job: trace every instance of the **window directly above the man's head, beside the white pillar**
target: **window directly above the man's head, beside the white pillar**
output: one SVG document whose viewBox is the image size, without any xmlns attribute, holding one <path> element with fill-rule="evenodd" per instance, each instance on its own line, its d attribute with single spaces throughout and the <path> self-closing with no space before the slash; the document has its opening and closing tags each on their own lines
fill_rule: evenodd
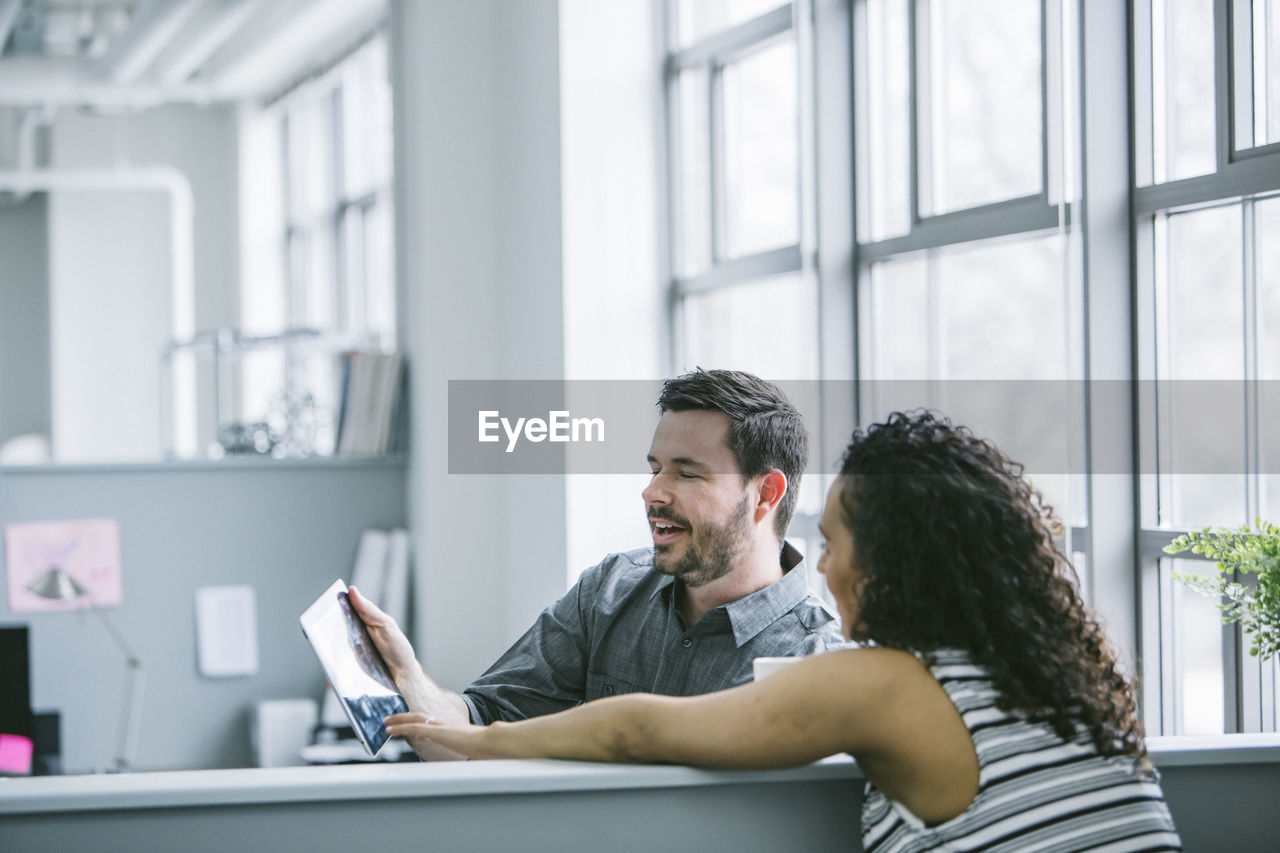
<svg viewBox="0 0 1280 853">
<path fill-rule="evenodd" d="M 668 6 L 671 278 L 684 368 L 818 375 L 801 6 Z"/>
</svg>

